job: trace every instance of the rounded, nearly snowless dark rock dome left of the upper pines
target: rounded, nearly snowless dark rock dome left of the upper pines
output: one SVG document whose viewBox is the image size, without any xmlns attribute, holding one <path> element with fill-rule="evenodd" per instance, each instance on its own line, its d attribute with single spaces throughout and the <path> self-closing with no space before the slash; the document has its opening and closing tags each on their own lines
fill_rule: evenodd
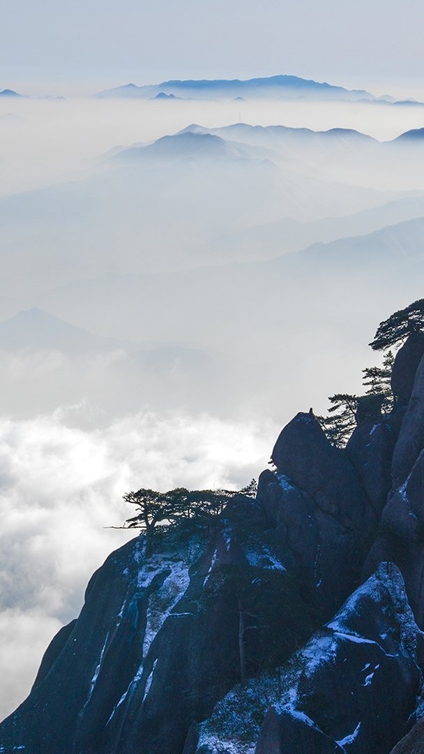
<svg viewBox="0 0 424 754">
<path fill-rule="evenodd" d="M 331 445 L 311 413 L 282 430 L 272 459 L 276 474 L 261 477 L 258 501 L 328 618 L 358 584 L 376 513 L 346 452 Z"/>
</svg>

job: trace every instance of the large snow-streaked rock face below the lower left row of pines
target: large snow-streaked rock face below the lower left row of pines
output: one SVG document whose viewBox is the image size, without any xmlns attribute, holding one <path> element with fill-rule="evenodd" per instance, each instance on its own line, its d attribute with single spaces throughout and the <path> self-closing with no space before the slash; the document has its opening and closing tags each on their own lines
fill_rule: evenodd
<svg viewBox="0 0 424 754">
<path fill-rule="evenodd" d="M 255 535 L 255 504 L 241 522 L 231 513 L 212 531 L 157 532 L 150 554 L 141 537 L 108 558 L 0 726 L 2 752 L 176 754 L 240 678 L 312 633 L 281 550 Z"/>
</svg>

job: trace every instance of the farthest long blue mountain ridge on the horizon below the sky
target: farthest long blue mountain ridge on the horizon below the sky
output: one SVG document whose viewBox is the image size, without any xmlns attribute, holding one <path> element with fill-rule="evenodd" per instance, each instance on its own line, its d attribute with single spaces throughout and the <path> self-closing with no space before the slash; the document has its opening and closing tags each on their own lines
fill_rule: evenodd
<svg viewBox="0 0 424 754">
<path fill-rule="evenodd" d="M 324 100 L 370 100 L 378 101 L 374 94 L 362 89 L 345 89 L 344 87 L 328 84 L 326 81 L 313 81 L 312 79 L 300 78 L 293 75 L 276 75 L 264 78 L 249 78 L 247 80 L 216 79 L 216 80 L 187 80 L 187 81 L 163 81 L 160 84 L 125 84 L 114 89 L 104 90 L 95 97 L 139 97 L 140 99 L 154 99 L 160 95 L 160 99 L 170 95 L 179 98 L 209 100 L 224 98 L 234 100 L 237 97 L 243 99 L 256 98 L 298 98 L 312 97 Z M 391 97 L 382 97 L 381 101 L 390 103 Z"/>
</svg>

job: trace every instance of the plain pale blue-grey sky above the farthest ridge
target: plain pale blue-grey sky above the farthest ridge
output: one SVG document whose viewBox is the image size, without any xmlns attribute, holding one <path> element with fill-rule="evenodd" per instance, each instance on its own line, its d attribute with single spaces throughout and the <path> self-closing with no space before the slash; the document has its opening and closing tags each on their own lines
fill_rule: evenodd
<svg viewBox="0 0 424 754">
<path fill-rule="evenodd" d="M 292 73 L 416 94 L 424 73 L 419 0 L 2 0 L 0 8 L 0 87 L 37 93 Z"/>
</svg>

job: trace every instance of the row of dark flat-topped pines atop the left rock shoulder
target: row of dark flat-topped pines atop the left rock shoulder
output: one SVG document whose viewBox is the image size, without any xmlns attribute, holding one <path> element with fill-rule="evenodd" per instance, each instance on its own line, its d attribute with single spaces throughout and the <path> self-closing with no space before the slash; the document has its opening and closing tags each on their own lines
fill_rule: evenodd
<svg viewBox="0 0 424 754">
<path fill-rule="evenodd" d="M 151 532 L 157 523 L 172 525 L 184 520 L 211 520 L 219 516 L 224 507 L 239 498 L 255 498 L 256 482 L 252 480 L 241 490 L 186 489 L 177 487 L 168 492 L 139 489 L 127 492 L 124 500 L 136 505 L 137 514 L 127 519 L 125 529 L 144 529 Z"/>
</svg>

